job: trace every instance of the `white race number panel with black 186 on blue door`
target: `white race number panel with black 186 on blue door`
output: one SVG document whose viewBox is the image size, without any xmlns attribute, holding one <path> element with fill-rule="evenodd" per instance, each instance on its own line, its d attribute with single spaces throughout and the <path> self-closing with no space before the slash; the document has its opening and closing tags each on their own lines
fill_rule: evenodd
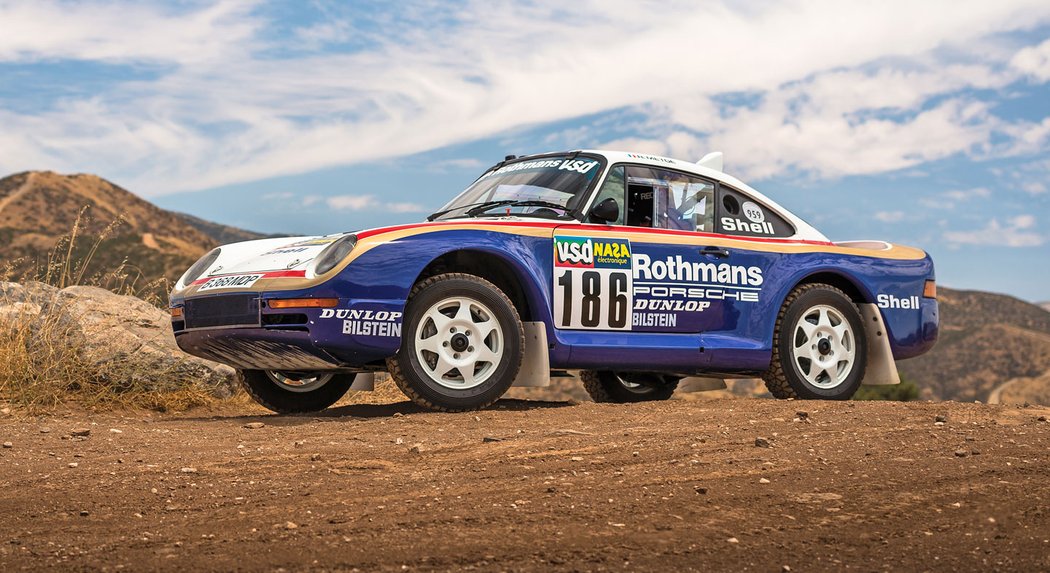
<svg viewBox="0 0 1050 573">
<path fill-rule="evenodd" d="M 615 269 L 556 269 L 554 320 L 560 328 L 631 327 L 631 275 Z"/>
</svg>

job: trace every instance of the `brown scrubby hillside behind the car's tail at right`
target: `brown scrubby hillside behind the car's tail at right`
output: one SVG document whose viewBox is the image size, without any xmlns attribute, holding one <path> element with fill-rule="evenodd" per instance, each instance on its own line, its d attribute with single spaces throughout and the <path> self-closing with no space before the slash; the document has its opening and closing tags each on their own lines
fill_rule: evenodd
<svg viewBox="0 0 1050 573">
<path fill-rule="evenodd" d="M 1048 382 L 1050 312 L 1016 298 L 980 291 L 939 288 L 941 338 L 924 356 L 898 363 L 901 374 L 923 388 L 924 398 L 987 400 L 1016 378 Z M 1024 390 L 1024 391 L 1023 391 Z M 1004 402 L 1046 403 L 1038 381 L 1004 391 Z"/>
</svg>

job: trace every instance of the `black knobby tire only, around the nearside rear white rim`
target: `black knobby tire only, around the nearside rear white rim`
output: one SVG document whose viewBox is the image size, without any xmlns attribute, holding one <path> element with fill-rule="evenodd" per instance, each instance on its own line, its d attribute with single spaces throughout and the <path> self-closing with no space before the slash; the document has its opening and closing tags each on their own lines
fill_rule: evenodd
<svg viewBox="0 0 1050 573">
<path fill-rule="evenodd" d="M 794 327 L 799 316 L 817 304 L 826 304 L 840 311 L 853 330 L 856 354 L 853 369 L 846 380 L 834 388 L 823 389 L 810 384 L 793 362 L 792 336 L 784 328 Z M 845 293 L 830 284 L 812 283 L 795 288 L 777 314 L 773 331 L 773 359 L 762 374 L 765 387 L 774 398 L 802 400 L 848 400 L 853 398 L 864 379 L 867 367 L 867 337 L 857 304 Z"/>
</svg>

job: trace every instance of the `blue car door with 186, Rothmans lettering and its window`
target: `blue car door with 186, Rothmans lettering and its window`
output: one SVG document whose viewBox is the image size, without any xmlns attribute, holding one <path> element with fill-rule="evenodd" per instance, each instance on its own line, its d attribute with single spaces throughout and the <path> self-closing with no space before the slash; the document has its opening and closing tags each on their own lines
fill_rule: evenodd
<svg viewBox="0 0 1050 573">
<path fill-rule="evenodd" d="M 762 269 L 718 237 L 715 182 L 670 169 L 613 166 L 592 205 L 613 198 L 611 225 L 554 232 L 553 315 L 560 330 L 701 333 L 735 327 L 757 300 Z"/>
</svg>

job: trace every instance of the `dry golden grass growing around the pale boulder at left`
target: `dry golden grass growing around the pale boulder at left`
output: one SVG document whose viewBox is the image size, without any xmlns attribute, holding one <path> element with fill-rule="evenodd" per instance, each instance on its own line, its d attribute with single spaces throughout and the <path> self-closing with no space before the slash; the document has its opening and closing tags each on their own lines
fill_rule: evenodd
<svg viewBox="0 0 1050 573">
<path fill-rule="evenodd" d="M 47 411 L 74 402 L 91 408 L 142 407 L 153 410 L 185 410 L 213 403 L 208 388 L 196 383 L 182 364 L 144 367 L 148 359 L 135 349 L 104 362 L 91 359 L 88 341 L 49 289 L 75 284 L 101 286 L 118 294 L 146 298 L 165 305 L 155 293 L 156 284 L 138 285 L 129 281 L 129 267 L 121 264 L 106 273 L 87 274 L 99 246 L 121 225 L 117 219 L 94 237 L 86 255 L 78 258 L 82 229 L 81 211 L 71 232 L 51 250 L 47 262 L 33 273 L 12 276 L 8 261 L 2 278 L 26 285 L 29 296 L 6 304 L 0 313 L 0 400 L 30 411 Z"/>
</svg>

